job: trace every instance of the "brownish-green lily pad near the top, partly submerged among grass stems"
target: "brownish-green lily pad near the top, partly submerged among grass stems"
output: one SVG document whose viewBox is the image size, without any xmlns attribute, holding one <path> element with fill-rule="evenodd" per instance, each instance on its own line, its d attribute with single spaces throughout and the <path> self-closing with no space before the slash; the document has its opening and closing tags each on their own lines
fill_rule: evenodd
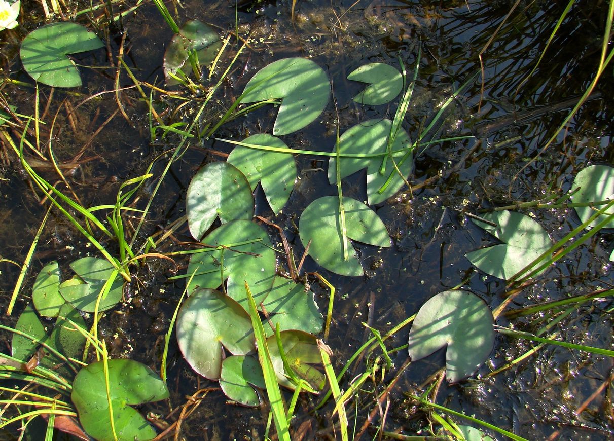
<svg viewBox="0 0 614 441">
<path fill-rule="evenodd" d="M 211 26 L 199 20 L 188 20 L 179 29 L 179 34 L 173 36 L 171 43 L 166 47 L 164 53 L 164 76 L 169 84 L 174 84 L 175 80 L 169 75 L 177 75 L 179 69 L 184 67 L 188 60 L 189 52 L 196 51 L 198 64 L 207 66 L 217 55 L 217 51 L 222 47 L 219 34 Z M 192 71 L 192 65 L 190 71 Z M 184 72 L 188 74 L 189 72 Z"/>
</svg>

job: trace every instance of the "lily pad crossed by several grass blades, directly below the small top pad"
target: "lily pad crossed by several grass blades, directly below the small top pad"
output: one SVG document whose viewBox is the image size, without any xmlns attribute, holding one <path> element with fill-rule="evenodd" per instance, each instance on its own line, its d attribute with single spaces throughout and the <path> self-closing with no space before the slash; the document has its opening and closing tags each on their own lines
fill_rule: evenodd
<svg viewBox="0 0 614 441">
<path fill-rule="evenodd" d="M 387 152 L 387 140 L 392 127 L 391 120 L 372 119 L 359 123 L 346 130 L 339 138 L 340 153 L 378 154 Z M 411 141 L 406 131 L 400 128 L 392 142 L 392 154 L 403 178 L 408 178 L 413 166 L 413 153 L 410 149 Z M 399 151 L 400 150 L 400 151 Z M 333 149 L 334 151 L 334 149 Z M 405 157 L 405 155 L 407 155 Z M 382 162 L 386 158 L 385 168 Z M 378 204 L 395 195 L 405 181 L 399 176 L 389 156 L 367 158 L 340 158 L 341 179 L 367 168 L 367 201 L 369 205 Z M 383 192 L 379 189 L 392 174 L 392 181 Z M 328 161 L 328 181 L 336 182 L 336 158 Z"/>
</svg>

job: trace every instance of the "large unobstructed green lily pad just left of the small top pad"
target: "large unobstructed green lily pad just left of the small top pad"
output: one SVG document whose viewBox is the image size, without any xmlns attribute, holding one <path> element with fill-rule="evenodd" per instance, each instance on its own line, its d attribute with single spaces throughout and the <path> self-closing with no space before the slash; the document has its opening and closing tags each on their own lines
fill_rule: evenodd
<svg viewBox="0 0 614 441">
<path fill-rule="evenodd" d="M 243 103 L 281 98 L 273 135 L 300 130 L 324 111 L 330 80 L 324 70 L 306 58 L 284 58 L 256 72 L 247 83 Z"/>
</svg>

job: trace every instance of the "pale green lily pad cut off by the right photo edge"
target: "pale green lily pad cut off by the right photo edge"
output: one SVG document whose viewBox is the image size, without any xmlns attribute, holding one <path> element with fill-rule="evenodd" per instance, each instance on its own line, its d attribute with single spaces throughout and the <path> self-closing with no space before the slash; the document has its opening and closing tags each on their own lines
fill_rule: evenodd
<svg viewBox="0 0 614 441">
<path fill-rule="evenodd" d="M 578 190 L 575 192 L 575 190 Z M 591 203 L 596 201 L 605 201 L 614 198 L 614 168 L 608 165 L 591 165 L 581 170 L 573 179 L 571 189 L 572 201 L 574 203 Z M 575 192 L 575 193 L 574 193 Z M 586 222 L 589 217 L 595 214 L 595 211 L 603 208 L 603 206 L 593 207 L 575 207 L 575 211 L 582 222 Z M 610 208 L 607 213 L 614 213 L 614 208 Z M 600 214 L 597 219 L 593 220 L 589 225 L 594 227 L 607 217 L 607 214 Z M 614 228 L 614 220 L 608 222 L 604 228 Z"/>
</svg>

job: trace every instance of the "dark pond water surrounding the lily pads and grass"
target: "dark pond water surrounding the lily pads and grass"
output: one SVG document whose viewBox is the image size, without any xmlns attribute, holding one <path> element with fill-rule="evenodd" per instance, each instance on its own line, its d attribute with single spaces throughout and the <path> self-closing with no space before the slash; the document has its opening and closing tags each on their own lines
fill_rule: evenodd
<svg viewBox="0 0 614 441">
<path fill-rule="evenodd" d="M 552 191 L 562 194 L 571 187 L 573 176 L 587 165 L 614 163 L 611 68 L 565 130 L 542 151 L 594 77 L 608 11 L 605 1 L 577 1 L 542 63 L 528 77 L 565 4 L 503 0 L 333 4 L 297 1 L 293 20 L 291 1 L 177 4 L 181 20 L 198 18 L 215 26 L 222 35 L 238 29 L 241 36 L 251 38 L 249 47 L 238 58 L 214 103 L 205 112 L 203 126 L 207 121 L 215 121 L 230 106 L 258 69 L 284 57 L 309 57 L 332 79 L 339 118 L 330 103 L 316 122 L 284 137 L 289 146 L 304 149 L 330 151 L 337 125 L 343 133 L 363 120 L 392 117 L 396 102 L 374 109 L 352 101 L 360 85 L 348 81 L 346 76 L 362 64 L 383 61 L 398 66 L 398 57 L 408 72 L 412 72 L 421 49 L 419 76 L 403 125 L 413 139 L 438 106 L 461 84 L 470 82 L 467 90 L 449 107 L 437 136 L 471 135 L 472 138 L 435 144 L 424 151 L 419 149 L 411 176 L 413 190 L 405 190 L 375 208 L 391 233 L 393 246 L 378 250 L 357 245 L 365 268 L 362 278 L 336 276 L 322 271 L 313 260 L 306 260 L 305 269 L 321 271 L 340 294 L 335 301 L 332 333 L 327 341 L 334 351 L 336 370 L 343 367 L 368 337 L 362 322 L 385 332 L 416 313 L 432 295 L 461 284 L 493 309 L 502 303 L 505 283 L 476 270 L 464 257 L 469 251 L 494 243 L 491 236 L 468 220 L 465 212 L 480 214 L 481 209 L 538 200 Z M 128 2 L 116 5 L 123 9 L 130 6 Z M 25 22 L 28 29 L 41 24 L 39 4 L 23 2 L 23 8 L 29 16 Z M 173 10 L 170 5 L 169 9 Z M 102 10 L 96 13 L 96 18 L 103 18 Z M 80 21 L 87 23 L 84 17 Z M 79 62 L 115 65 L 122 47 L 126 64 L 139 80 L 157 82 L 166 88 L 161 60 L 172 33 L 155 7 L 140 6 L 136 14 L 127 15 L 116 25 L 101 26 L 107 33 L 112 60 L 107 58 L 105 50 L 100 50 L 80 57 Z M 120 25 L 125 30 L 123 34 Z M 8 36 L 2 35 L 2 69 L 5 76 L 31 84 L 31 79 L 21 70 L 17 55 L 18 41 L 25 33 L 22 27 Z M 236 48 L 227 54 L 228 59 L 233 50 Z M 59 160 L 79 163 L 67 165 L 66 170 L 70 171 L 68 179 L 86 206 L 112 203 L 120 182 L 144 173 L 152 162 L 152 173 L 159 175 L 168 160 L 168 155 L 162 154 L 174 149 L 178 142 L 173 136 L 150 142 L 147 106 L 134 88 L 123 90 L 121 95 L 130 122 L 120 113 L 114 114 L 117 102 L 108 91 L 114 90 L 115 72 L 112 67 L 85 69 L 84 87 L 77 89 L 77 94 L 52 91 L 45 86 L 40 89 L 42 119 L 47 122 L 41 138 L 49 139 L 49 125 L 56 116 L 53 149 Z M 34 88 L 27 84 L 2 84 L 2 94 L 22 114 L 34 111 Z M 206 81 L 204 84 L 210 85 Z M 133 83 L 122 74 L 119 85 L 131 87 Z M 154 104 L 158 111 L 167 123 L 190 122 L 202 95 L 190 95 L 179 87 L 168 89 L 181 92 L 188 98 L 187 104 L 155 92 Z M 95 100 L 85 100 L 105 91 Z M 253 133 L 270 132 L 275 112 L 272 107 L 251 112 L 247 117 L 223 125 L 216 137 L 242 139 Z M 96 133 L 103 125 L 103 130 Z M 81 150 L 82 155 L 75 158 Z M 212 160 L 223 160 L 223 154 L 230 150 L 230 144 L 212 139 L 192 142 L 173 164 L 157 193 L 142 238 L 159 234 L 184 216 L 185 191 L 196 170 Z M 300 256 L 303 247 L 295 228 L 300 213 L 317 197 L 335 195 L 336 187 L 328 184 L 324 171 L 327 164 L 322 160 L 303 155 L 296 159 L 300 179 L 284 214 L 274 220 L 286 230 L 295 256 Z M 1 160 L 0 254 L 21 262 L 47 204 L 37 200 L 40 193 L 34 196 L 12 151 L 6 149 Z M 58 180 L 45 165 L 37 170 L 52 182 Z M 363 200 L 365 194 L 363 174 L 344 180 L 344 195 Z M 146 200 L 148 195 L 144 193 L 141 197 Z M 553 240 L 559 240 L 579 224 L 573 209 L 525 209 L 523 213 L 534 216 Z M 262 194 L 257 195 L 257 214 L 273 219 Z M 60 213 L 52 211 L 51 216 L 36 248 L 17 313 L 29 301 L 34 276 L 44 263 L 58 259 L 67 265 L 76 257 L 93 254 L 87 241 Z M 274 234 L 274 230 L 270 232 Z M 187 226 L 181 225 L 158 251 L 185 249 L 180 243 L 189 240 Z M 114 248 L 112 243 L 107 245 Z M 599 233 L 526 287 L 514 298 L 510 308 L 611 288 L 613 279 L 608 260 L 611 251 L 612 234 Z M 187 265 L 187 259 L 176 262 L 182 268 Z M 9 263 L 2 265 L 0 302 L 6 308 L 18 268 Z M 131 357 L 159 369 L 168 321 L 184 289 L 181 281 L 168 281 L 172 270 L 172 265 L 157 260 L 138 268 L 133 283 L 126 287 L 126 302 L 102 319 L 101 332 L 111 344 L 112 356 Z M 312 283 L 324 311 L 328 291 L 316 281 Z M 558 314 L 558 310 L 550 311 L 511 322 L 499 318 L 497 323 L 503 326 L 511 323 L 517 329 L 537 332 Z M 13 324 L 16 315 L 2 318 L 2 322 Z M 581 304 L 552 331 L 558 332 L 558 337 L 565 341 L 613 349 L 611 297 Z M 409 329 L 398 332 L 388 340 L 388 347 L 405 344 L 408 332 Z M 182 420 L 181 436 L 184 439 L 262 439 L 267 410 L 227 404 L 216 389 L 217 384 L 193 373 L 172 342 L 168 370 L 171 400 L 144 410 L 151 410 L 173 423 L 179 418 L 179 407 L 185 404 L 186 396 L 211 388 L 200 400 L 199 407 Z M 9 339 L 5 338 L 2 351 L 9 350 L 9 346 Z M 544 346 L 514 367 L 483 378 L 530 348 L 527 341 L 499 336 L 489 362 L 478 372 L 482 379 L 454 385 L 443 381 L 437 386 L 436 402 L 527 439 L 612 439 L 614 365 L 608 357 Z M 443 351 L 438 351 L 399 373 L 406 359 L 406 350 L 399 351 L 394 369 L 378 372 L 376 378 L 363 385 L 357 398 L 346 405 L 350 427 L 356 426 L 354 433 L 362 433 L 362 439 L 381 435 L 378 427 L 405 435 L 429 434 L 432 418 L 406 392 L 424 391 L 433 381 L 437 383 L 432 375 L 443 367 L 445 356 Z M 341 387 L 348 388 L 352 378 L 364 372 L 369 362 L 373 362 L 372 357 L 357 362 L 343 378 Z M 377 397 L 394 378 L 397 381 L 391 393 L 378 408 Z M 334 427 L 336 417 L 331 416 L 332 405 L 314 412 L 316 401 L 313 397 L 300 400 L 292 423 L 293 430 L 298 431 L 296 439 L 300 439 L 300 434 L 304 439 L 334 439 L 338 435 Z M 372 419 L 370 426 L 365 424 L 368 418 Z M 458 418 L 454 421 L 465 423 Z M 361 430 L 363 424 L 366 429 Z M 495 432 L 489 434 L 503 439 Z M 7 434 L 7 439 L 17 435 L 15 430 Z"/>
</svg>

